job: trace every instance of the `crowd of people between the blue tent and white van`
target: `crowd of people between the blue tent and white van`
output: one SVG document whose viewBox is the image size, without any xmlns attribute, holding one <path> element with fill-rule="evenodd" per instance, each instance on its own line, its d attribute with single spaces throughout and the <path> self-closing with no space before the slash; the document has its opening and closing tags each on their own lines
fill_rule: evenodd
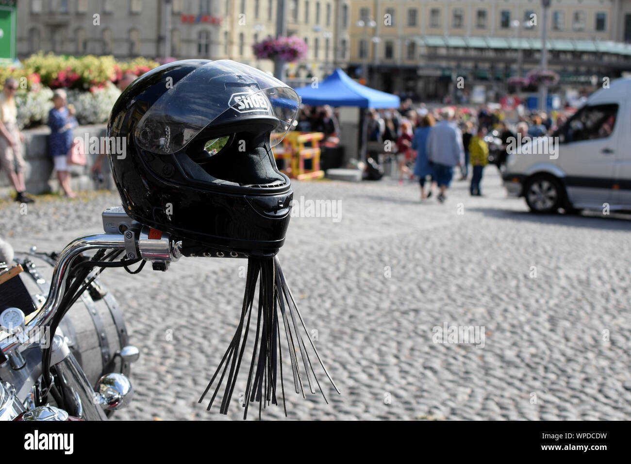
<svg viewBox="0 0 631 464">
<path fill-rule="evenodd" d="M 482 106 L 477 112 L 465 107 L 428 109 L 425 105 L 414 107 L 410 100 L 398 110 L 370 110 L 367 118 L 369 141 L 384 146 L 391 141 L 388 146 L 396 146 L 399 184 L 406 176 L 417 177 L 421 199 L 430 198 L 437 190 L 440 203 L 447 198 L 454 172 L 459 174 L 459 181 L 470 182 L 472 196 L 482 196 L 480 184 L 489 162 L 487 135 L 492 133 L 493 140 L 500 141 L 495 155 L 499 167 L 507 158 L 511 138 L 518 133 L 522 139 L 545 136 L 565 122 L 563 114 L 531 112 L 518 114 L 511 124 L 499 108 Z"/>
</svg>

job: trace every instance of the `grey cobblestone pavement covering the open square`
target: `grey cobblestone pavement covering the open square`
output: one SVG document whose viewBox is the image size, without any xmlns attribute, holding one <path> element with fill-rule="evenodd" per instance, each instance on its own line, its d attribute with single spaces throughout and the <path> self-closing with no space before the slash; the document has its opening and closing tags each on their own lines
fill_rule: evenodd
<svg viewBox="0 0 631 464">
<path fill-rule="evenodd" d="M 294 189 L 341 203 L 339 222 L 292 218 L 280 259 L 342 395 L 326 382 L 329 405 L 286 391 L 290 419 L 631 419 L 628 218 L 531 215 L 505 198 L 494 167 L 484 198 L 454 182 L 444 205 L 389 180 Z M 99 232 L 100 211 L 116 204 L 49 199 L 20 215 L 4 203 L 0 235 L 59 250 Z M 227 416 L 197 400 L 238 322 L 244 264 L 189 258 L 167 273 L 103 274 L 142 352 L 134 401 L 116 420 L 242 416 L 235 398 Z M 484 338 L 435 343 L 444 326 Z M 244 386 L 242 372 L 235 391 Z M 273 406 L 263 417 L 284 415 Z"/>
</svg>

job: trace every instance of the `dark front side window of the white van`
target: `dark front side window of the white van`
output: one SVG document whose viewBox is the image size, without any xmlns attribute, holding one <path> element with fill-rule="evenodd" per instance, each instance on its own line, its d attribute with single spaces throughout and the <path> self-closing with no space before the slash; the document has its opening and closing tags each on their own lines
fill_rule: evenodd
<svg viewBox="0 0 631 464">
<path fill-rule="evenodd" d="M 613 133 L 617 114 L 617 104 L 582 107 L 558 129 L 555 136 L 561 143 L 606 138 Z"/>
</svg>

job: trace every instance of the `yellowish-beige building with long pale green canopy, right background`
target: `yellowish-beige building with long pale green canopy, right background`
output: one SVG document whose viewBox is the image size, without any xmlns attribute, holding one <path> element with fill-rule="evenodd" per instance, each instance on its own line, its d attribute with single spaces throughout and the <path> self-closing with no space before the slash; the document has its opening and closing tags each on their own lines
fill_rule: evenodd
<svg viewBox="0 0 631 464">
<path fill-rule="evenodd" d="M 420 98 L 457 97 L 459 76 L 505 92 L 539 67 L 543 22 L 538 0 L 353 0 L 349 70 Z M 630 0 L 552 0 L 547 32 L 562 82 L 631 71 Z"/>
</svg>

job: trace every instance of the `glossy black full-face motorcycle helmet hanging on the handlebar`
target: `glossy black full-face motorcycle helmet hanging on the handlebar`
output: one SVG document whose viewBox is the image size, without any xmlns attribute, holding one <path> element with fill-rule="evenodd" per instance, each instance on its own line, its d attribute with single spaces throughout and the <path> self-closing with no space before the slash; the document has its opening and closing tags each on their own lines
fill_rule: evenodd
<svg viewBox="0 0 631 464">
<path fill-rule="evenodd" d="M 300 98 L 230 60 L 165 64 L 131 83 L 107 124 L 122 205 L 182 240 L 187 256 L 271 256 L 285 241 L 292 186 L 271 146 Z"/>
</svg>

